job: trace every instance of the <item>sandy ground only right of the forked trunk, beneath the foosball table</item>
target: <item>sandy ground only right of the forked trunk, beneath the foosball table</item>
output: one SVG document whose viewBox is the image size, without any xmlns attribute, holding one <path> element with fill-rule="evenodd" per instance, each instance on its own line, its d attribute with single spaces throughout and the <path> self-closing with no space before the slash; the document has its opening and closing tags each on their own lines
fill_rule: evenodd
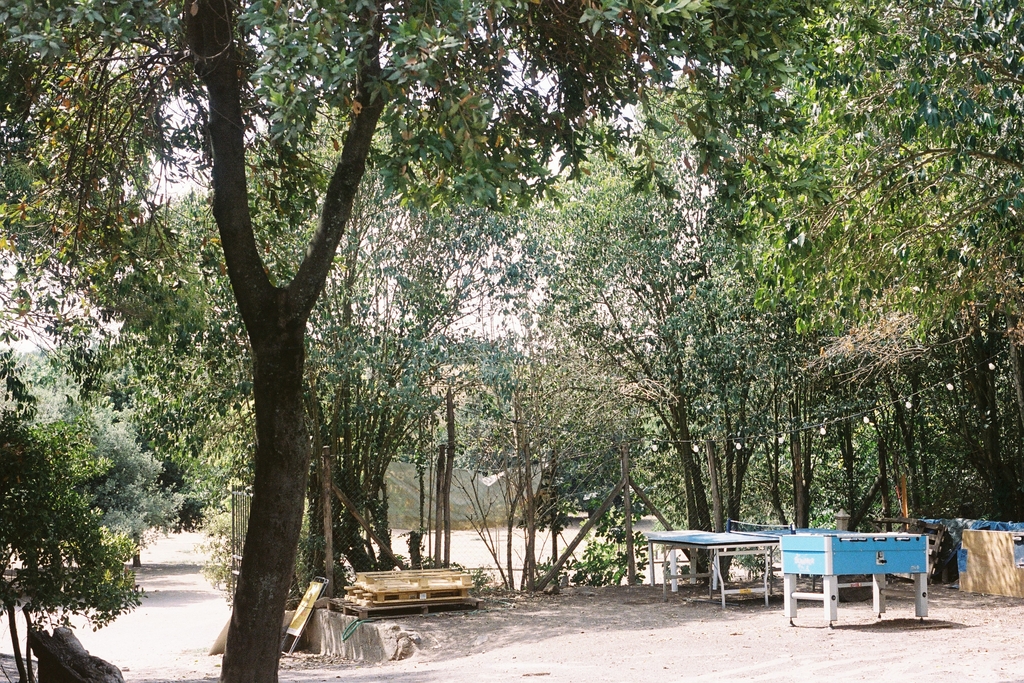
<svg viewBox="0 0 1024 683">
<path fill-rule="evenodd" d="M 282 680 L 1024 681 L 1024 600 L 937 588 L 924 622 L 907 595 L 891 598 L 882 621 L 869 602 L 844 603 L 829 630 L 813 606 L 792 628 L 778 599 L 722 610 L 703 595 L 666 603 L 647 587 L 572 590 L 511 609 L 416 617 L 407 628 L 433 647 L 409 660 L 286 671 Z"/>
</svg>

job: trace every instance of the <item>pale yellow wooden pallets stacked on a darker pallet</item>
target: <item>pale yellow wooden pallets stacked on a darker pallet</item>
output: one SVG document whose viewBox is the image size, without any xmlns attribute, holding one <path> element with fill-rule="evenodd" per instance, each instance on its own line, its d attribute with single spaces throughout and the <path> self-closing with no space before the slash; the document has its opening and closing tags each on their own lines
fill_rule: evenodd
<svg viewBox="0 0 1024 683">
<path fill-rule="evenodd" d="M 472 578 L 452 569 L 365 571 L 345 588 L 345 598 L 367 607 L 459 601 L 469 597 Z"/>
</svg>

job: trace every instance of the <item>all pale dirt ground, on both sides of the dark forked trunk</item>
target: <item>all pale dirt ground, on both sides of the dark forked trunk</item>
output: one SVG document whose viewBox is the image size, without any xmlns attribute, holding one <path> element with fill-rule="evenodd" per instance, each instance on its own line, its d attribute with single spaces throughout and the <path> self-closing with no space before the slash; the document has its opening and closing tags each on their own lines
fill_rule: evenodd
<svg viewBox="0 0 1024 683">
<path fill-rule="evenodd" d="M 227 618 L 221 594 L 199 574 L 201 538 L 180 535 L 143 554 L 142 607 L 98 632 L 79 629 L 93 654 L 127 681 L 213 681 L 206 651 Z M 791 627 L 781 599 L 730 603 L 684 587 L 566 589 L 556 596 L 490 597 L 477 612 L 403 620 L 420 634 L 411 658 L 376 666 L 316 655 L 282 660 L 282 681 L 486 683 L 546 681 L 1019 681 L 1024 682 L 1024 600 L 933 587 L 930 616 L 890 597 L 883 620 L 870 602 L 843 603 L 827 629 L 806 603 Z M 10 652 L 0 630 L 0 654 Z M 6 668 L 9 659 L 0 661 Z"/>
</svg>

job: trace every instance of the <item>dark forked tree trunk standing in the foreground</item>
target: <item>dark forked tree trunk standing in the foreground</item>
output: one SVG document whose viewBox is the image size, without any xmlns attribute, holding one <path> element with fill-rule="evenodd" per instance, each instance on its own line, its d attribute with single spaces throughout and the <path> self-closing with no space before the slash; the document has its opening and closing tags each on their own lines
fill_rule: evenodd
<svg viewBox="0 0 1024 683">
<path fill-rule="evenodd" d="M 373 6 L 365 17 L 368 40 L 378 42 L 368 44 L 360 74 L 364 85 L 357 98 L 362 108 L 349 125 L 341 159 L 328 184 L 319 224 L 287 287 L 270 283 L 249 212 L 233 4 L 229 0 L 185 0 L 182 18 L 196 72 L 209 97 L 213 215 L 253 357 L 256 455 L 252 510 L 221 680 L 275 683 L 281 622 L 294 574 L 310 459 L 302 400 L 305 326 L 351 215 L 383 110 L 383 99 L 371 100 L 365 87 L 380 74 L 380 17 Z"/>
</svg>

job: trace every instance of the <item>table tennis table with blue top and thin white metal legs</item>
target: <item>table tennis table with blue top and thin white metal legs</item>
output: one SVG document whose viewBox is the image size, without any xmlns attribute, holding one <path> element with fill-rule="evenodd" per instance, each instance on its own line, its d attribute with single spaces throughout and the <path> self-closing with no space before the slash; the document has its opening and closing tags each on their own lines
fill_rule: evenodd
<svg viewBox="0 0 1024 683">
<path fill-rule="evenodd" d="M 716 589 L 720 592 L 722 607 L 725 607 L 725 597 L 727 595 L 756 595 L 764 594 L 765 604 L 768 604 L 768 596 L 771 594 L 772 582 L 772 556 L 779 545 L 782 536 L 793 533 L 793 529 L 764 529 L 759 531 L 651 531 L 647 533 L 647 557 L 650 558 L 650 585 L 654 585 L 654 545 L 664 546 L 669 553 L 669 567 L 665 573 L 665 588 L 668 592 L 670 582 L 673 590 L 676 582 L 682 578 L 688 578 L 690 583 L 696 583 L 697 579 L 710 578 L 708 582 L 709 597 L 715 596 Z M 835 532 L 835 531 L 833 531 Z M 676 573 L 675 551 L 682 550 L 690 558 L 690 573 Z M 708 553 L 710 572 L 696 573 L 694 571 L 695 554 L 698 552 Z M 722 557 L 737 555 L 762 555 L 765 559 L 765 571 L 762 578 L 761 588 L 728 588 L 725 577 L 722 574 Z M 664 566 L 664 562 L 663 562 Z"/>
</svg>

